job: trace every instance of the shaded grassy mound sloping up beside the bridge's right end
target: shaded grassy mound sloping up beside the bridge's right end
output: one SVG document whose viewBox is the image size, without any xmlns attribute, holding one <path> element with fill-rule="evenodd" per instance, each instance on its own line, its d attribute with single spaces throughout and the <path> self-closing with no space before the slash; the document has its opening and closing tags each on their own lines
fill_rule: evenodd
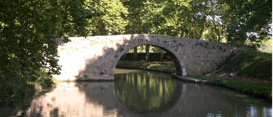
<svg viewBox="0 0 273 117">
<path fill-rule="evenodd" d="M 272 56 L 268 53 L 246 51 L 229 60 L 219 72 L 272 81 Z"/>
</svg>

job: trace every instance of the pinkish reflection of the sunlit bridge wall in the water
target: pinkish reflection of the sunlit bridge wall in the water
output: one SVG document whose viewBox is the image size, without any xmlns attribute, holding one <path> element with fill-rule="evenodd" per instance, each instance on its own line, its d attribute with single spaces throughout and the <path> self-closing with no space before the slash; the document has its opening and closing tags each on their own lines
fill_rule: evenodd
<svg viewBox="0 0 273 117">
<path fill-rule="evenodd" d="M 113 83 L 111 84 L 113 86 Z M 52 92 L 34 99 L 27 115 L 103 116 L 105 108 L 99 103 L 102 95 L 99 95 L 98 92 L 106 92 L 103 90 L 105 85 L 106 89 L 110 89 L 108 83 L 61 82 Z M 91 95 L 89 92 L 92 92 Z M 111 97 L 109 94 L 107 96 L 109 100 Z M 111 107 L 109 104 L 105 106 Z"/>
</svg>

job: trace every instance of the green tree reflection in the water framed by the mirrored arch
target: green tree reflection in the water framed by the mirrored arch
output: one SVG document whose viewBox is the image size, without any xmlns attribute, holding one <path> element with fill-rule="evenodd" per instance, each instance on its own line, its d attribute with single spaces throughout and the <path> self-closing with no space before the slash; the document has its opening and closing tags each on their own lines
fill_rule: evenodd
<svg viewBox="0 0 273 117">
<path fill-rule="evenodd" d="M 115 74 L 117 97 L 139 113 L 167 111 L 179 99 L 182 87 L 166 76 L 146 71 Z"/>
</svg>

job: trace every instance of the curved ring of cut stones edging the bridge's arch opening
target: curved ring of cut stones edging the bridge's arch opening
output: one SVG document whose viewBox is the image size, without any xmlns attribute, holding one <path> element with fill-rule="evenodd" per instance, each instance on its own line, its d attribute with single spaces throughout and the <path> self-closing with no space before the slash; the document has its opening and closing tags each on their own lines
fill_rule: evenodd
<svg viewBox="0 0 273 117">
<path fill-rule="evenodd" d="M 116 59 L 115 59 L 115 61 L 112 62 L 112 65 L 111 65 L 112 69 L 114 69 L 114 70 L 111 72 L 115 72 L 115 66 L 117 65 L 117 62 L 120 60 L 120 58 L 123 56 L 123 54 L 125 54 L 129 49 L 132 49 L 134 47 L 141 46 L 141 45 L 151 45 L 151 46 L 155 46 L 155 47 L 158 47 L 158 48 L 164 50 L 173 59 L 175 69 L 176 69 L 176 75 L 179 75 L 179 76 L 186 76 L 187 75 L 185 62 L 182 59 L 182 57 L 180 57 L 180 54 L 175 52 L 175 50 L 170 48 L 170 46 L 168 46 L 167 44 L 163 44 L 163 43 L 156 42 L 156 41 L 141 41 L 139 43 L 130 44 L 129 46 L 124 48 L 124 51 L 120 52 L 120 54 L 117 54 L 117 56 L 115 56 Z M 114 74 L 114 73 L 110 73 L 110 74 Z"/>
</svg>

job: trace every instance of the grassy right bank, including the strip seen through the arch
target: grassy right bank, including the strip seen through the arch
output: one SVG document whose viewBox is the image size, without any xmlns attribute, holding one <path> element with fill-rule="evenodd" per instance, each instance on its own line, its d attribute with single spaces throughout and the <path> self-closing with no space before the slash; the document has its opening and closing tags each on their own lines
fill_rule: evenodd
<svg viewBox="0 0 273 117">
<path fill-rule="evenodd" d="M 119 61 L 116 67 L 175 73 L 173 62 Z M 267 53 L 243 52 L 214 73 L 187 77 L 272 102 L 272 56 Z"/>
</svg>

